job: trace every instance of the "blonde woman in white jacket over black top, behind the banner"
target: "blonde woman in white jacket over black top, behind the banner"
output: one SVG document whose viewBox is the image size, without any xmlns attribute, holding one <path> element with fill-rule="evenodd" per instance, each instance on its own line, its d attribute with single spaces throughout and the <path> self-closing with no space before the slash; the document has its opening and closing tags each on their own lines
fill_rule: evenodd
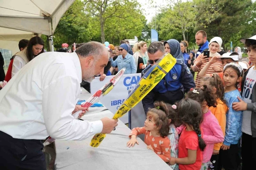
<svg viewBox="0 0 256 170">
<path fill-rule="evenodd" d="M 135 51 L 133 57 L 136 62 L 137 73 L 141 73 L 141 71 L 147 67 L 147 43 L 144 41 L 135 43 L 133 48 Z"/>
</svg>

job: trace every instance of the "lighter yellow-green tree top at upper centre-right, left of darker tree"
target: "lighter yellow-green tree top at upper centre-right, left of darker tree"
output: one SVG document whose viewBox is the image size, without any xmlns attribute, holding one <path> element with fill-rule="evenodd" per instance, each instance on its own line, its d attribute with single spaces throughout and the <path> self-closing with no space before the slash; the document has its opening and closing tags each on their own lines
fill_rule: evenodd
<svg viewBox="0 0 256 170">
<path fill-rule="evenodd" d="M 160 19 L 161 33 L 181 33 L 183 40 L 186 40 L 186 33 L 196 27 L 205 26 L 219 17 L 219 8 L 214 0 L 171 0 L 171 5 L 164 8 L 165 11 Z M 205 5 L 205 3 L 207 5 Z M 171 31 L 171 32 L 170 32 Z"/>
</svg>

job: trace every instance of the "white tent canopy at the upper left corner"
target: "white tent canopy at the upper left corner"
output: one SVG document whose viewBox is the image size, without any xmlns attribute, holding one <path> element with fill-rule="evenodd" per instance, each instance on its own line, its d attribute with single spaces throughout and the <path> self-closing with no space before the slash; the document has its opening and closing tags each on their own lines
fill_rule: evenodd
<svg viewBox="0 0 256 170">
<path fill-rule="evenodd" d="M 30 39 L 36 34 L 52 36 L 74 1 L 0 0 L 0 48 L 16 53 L 20 39 Z"/>
</svg>

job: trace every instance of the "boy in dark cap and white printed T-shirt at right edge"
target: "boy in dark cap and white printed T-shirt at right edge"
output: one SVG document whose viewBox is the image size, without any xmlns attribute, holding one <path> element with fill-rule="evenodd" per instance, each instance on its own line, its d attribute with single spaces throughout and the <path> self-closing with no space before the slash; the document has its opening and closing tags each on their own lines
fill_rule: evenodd
<svg viewBox="0 0 256 170">
<path fill-rule="evenodd" d="M 242 43 L 248 48 L 248 56 L 251 63 L 256 62 L 256 35 L 242 39 Z M 235 111 L 243 111 L 242 119 L 242 170 L 252 169 L 256 162 L 256 68 L 252 65 L 248 68 L 242 80 L 242 99 L 233 102 Z"/>
</svg>

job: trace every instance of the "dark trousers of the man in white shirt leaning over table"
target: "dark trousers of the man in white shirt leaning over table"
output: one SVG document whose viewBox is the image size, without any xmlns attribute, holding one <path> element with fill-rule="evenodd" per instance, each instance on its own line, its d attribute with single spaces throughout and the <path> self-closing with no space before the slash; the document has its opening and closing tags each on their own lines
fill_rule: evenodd
<svg viewBox="0 0 256 170">
<path fill-rule="evenodd" d="M 46 170 L 41 140 L 14 139 L 0 131 L 0 169 Z"/>
</svg>

